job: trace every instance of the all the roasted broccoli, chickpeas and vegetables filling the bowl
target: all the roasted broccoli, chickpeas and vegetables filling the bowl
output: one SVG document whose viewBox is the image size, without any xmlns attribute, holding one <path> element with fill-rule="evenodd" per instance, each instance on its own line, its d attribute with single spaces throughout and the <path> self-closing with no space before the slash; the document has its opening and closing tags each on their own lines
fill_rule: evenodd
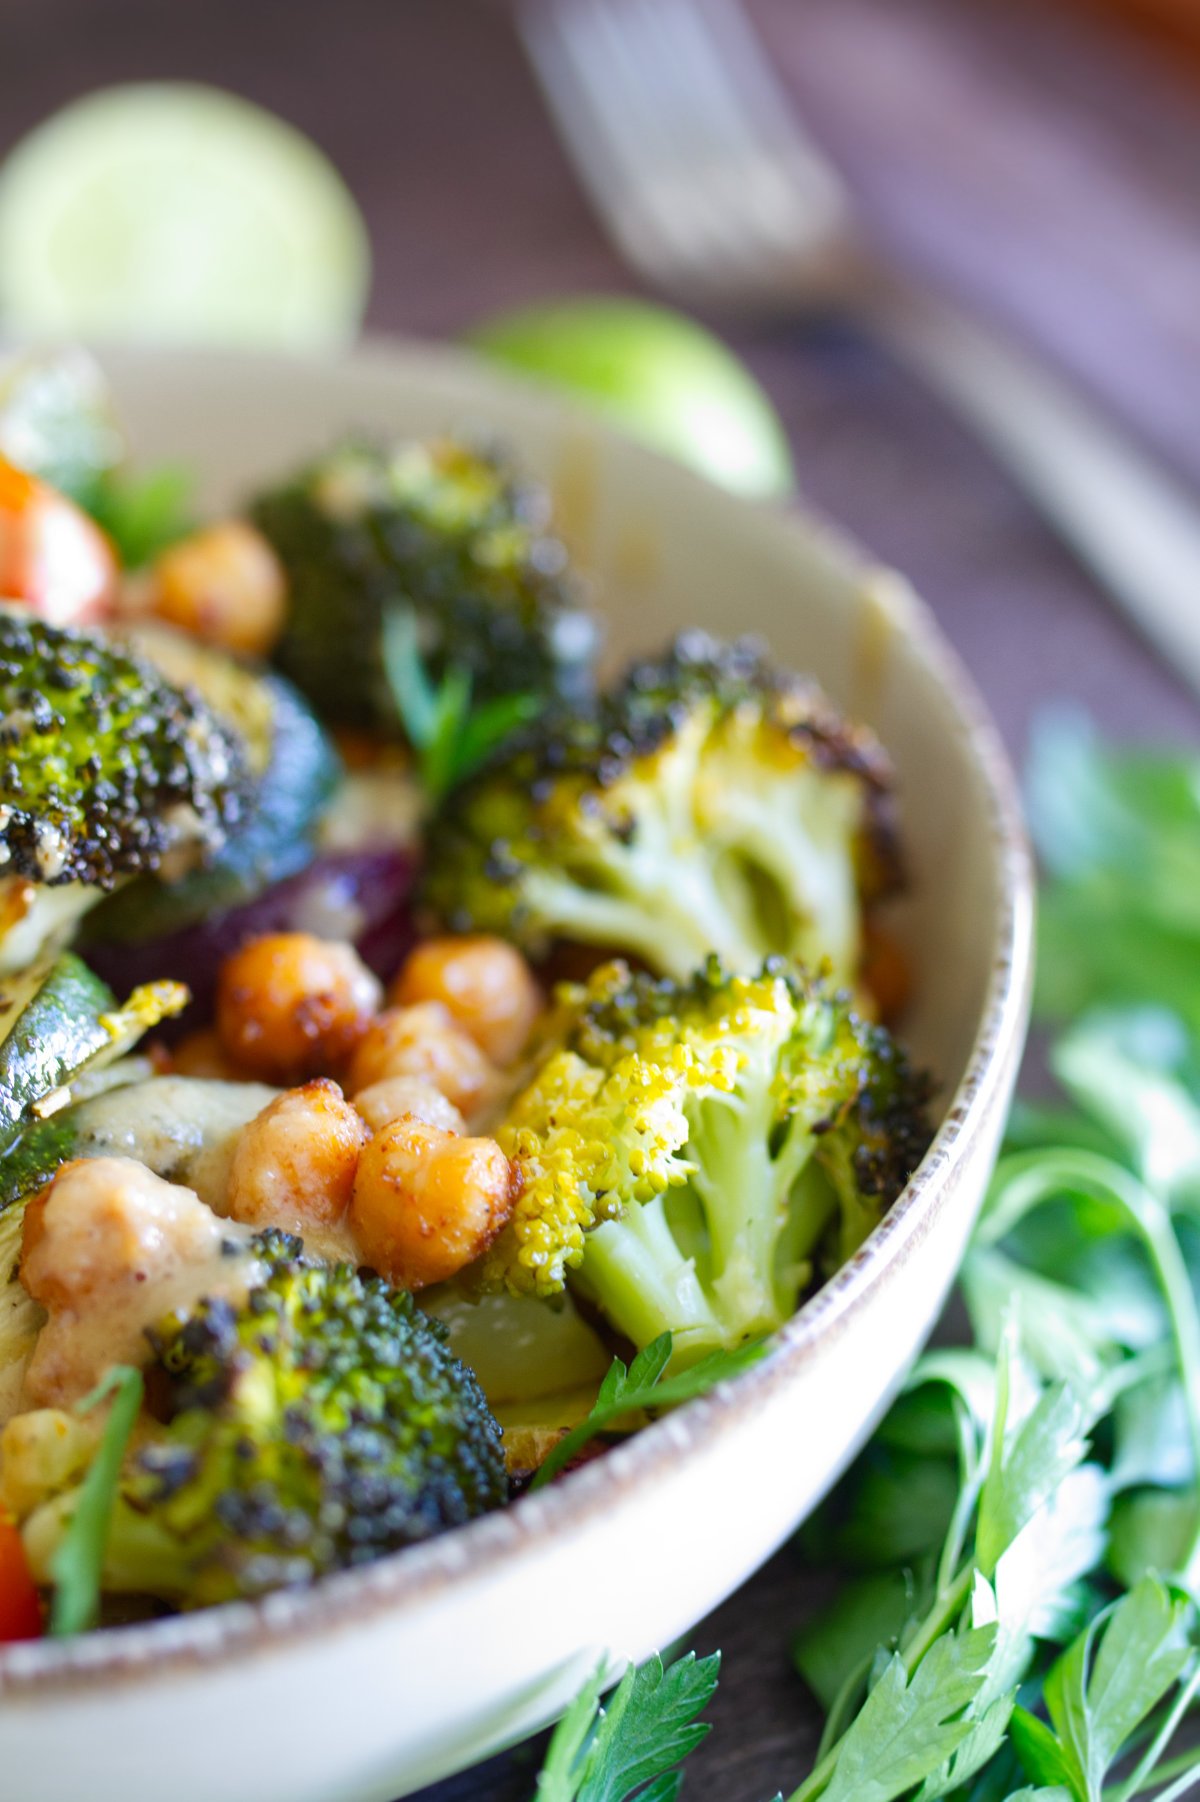
<svg viewBox="0 0 1200 1802">
<path fill-rule="evenodd" d="M 751 642 L 602 685 L 600 596 L 503 449 L 335 445 L 189 524 L 115 429 L 29 441 L 0 1640 L 503 1506 L 647 1418 L 614 1359 L 663 1400 L 735 1373 L 905 1188 L 932 1094 L 885 750 Z"/>
</svg>

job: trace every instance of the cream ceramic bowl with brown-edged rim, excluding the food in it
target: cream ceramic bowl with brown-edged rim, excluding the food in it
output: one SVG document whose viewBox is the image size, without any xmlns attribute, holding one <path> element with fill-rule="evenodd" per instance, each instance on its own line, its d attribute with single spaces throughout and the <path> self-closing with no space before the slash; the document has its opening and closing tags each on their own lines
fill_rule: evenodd
<svg viewBox="0 0 1200 1802">
<path fill-rule="evenodd" d="M 695 623 L 762 633 L 899 769 L 906 1036 L 941 1079 L 941 1130 L 764 1364 L 557 1487 L 310 1593 L 0 1652 L 11 1802 L 389 1802 L 550 1721 L 600 1656 L 692 1627 L 879 1418 L 950 1288 L 1013 1088 L 1025 842 L 993 726 L 930 614 L 804 514 L 733 499 L 443 350 L 105 360 L 135 454 L 193 465 L 213 505 L 351 427 L 497 427 L 551 483 L 614 652 Z"/>
</svg>

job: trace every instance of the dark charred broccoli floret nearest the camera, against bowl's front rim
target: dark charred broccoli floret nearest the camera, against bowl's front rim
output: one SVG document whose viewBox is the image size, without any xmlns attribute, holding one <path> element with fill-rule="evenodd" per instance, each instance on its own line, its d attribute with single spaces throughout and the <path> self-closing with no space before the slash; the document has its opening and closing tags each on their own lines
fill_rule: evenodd
<svg viewBox="0 0 1200 1802">
<path fill-rule="evenodd" d="M 308 1584 L 499 1506 L 501 1431 L 445 1330 L 301 1242 L 250 1240 L 243 1305 L 198 1303 L 151 1330 L 146 1391 L 162 1425 L 126 1458 L 105 1588 L 186 1607 Z M 74 1494 L 25 1523 L 38 1570 Z"/>
</svg>

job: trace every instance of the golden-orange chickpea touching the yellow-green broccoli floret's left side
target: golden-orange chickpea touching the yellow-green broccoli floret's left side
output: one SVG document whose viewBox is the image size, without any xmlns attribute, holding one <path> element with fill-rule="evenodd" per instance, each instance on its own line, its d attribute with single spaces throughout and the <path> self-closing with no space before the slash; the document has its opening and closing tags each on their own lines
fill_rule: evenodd
<svg viewBox="0 0 1200 1802">
<path fill-rule="evenodd" d="M 407 1117 L 362 1151 L 350 1224 L 373 1270 L 400 1288 L 425 1288 L 479 1258 L 514 1200 L 512 1168 L 494 1139 L 459 1139 Z"/>
</svg>

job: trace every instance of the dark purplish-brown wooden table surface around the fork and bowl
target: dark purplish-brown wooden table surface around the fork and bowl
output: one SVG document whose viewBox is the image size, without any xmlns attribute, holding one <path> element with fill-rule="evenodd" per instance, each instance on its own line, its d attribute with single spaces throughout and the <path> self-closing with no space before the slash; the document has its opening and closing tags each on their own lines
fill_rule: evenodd
<svg viewBox="0 0 1200 1802">
<path fill-rule="evenodd" d="M 1195 63 L 1187 76 L 1049 0 L 751 9 L 879 241 L 1041 346 L 1200 494 Z M 324 144 L 371 227 L 375 330 L 454 335 L 503 305 L 632 287 L 503 5 L 0 0 L 0 151 L 88 86 L 150 76 L 236 88 Z M 805 496 L 914 577 L 1016 757 L 1034 710 L 1063 694 L 1114 732 L 1196 739 L 1193 699 L 870 342 L 832 319 L 714 324 L 775 396 Z M 723 1649 L 724 1681 L 692 1802 L 762 1802 L 802 1775 L 814 1717 L 787 1640 L 811 1595 L 784 1550 L 695 1629 L 699 1651 Z M 535 1768 L 535 1752 L 510 1753 L 423 1802 L 517 1802 Z"/>
</svg>

